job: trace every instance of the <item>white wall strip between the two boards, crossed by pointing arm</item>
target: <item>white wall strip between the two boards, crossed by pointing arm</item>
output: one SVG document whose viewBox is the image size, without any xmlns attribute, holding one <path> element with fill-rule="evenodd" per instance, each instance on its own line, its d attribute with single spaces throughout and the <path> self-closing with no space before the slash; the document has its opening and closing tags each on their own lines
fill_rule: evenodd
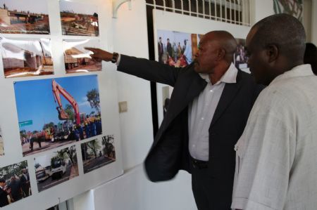
<svg viewBox="0 0 317 210">
<path fill-rule="evenodd" d="M 132 1 L 118 10 L 113 19 L 113 50 L 126 55 L 149 58 L 147 14 L 144 1 Z M 128 102 L 128 112 L 120 114 L 123 169 L 143 162 L 153 142 L 151 88 L 149 81 L 118 72 L 119 101 Z"/>
</svg>

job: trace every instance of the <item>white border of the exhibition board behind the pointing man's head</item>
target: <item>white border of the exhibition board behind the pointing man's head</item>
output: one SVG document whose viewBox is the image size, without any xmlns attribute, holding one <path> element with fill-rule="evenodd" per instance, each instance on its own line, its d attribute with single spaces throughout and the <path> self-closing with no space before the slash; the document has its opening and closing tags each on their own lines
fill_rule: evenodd
<svg viewBox="0 0 317 210">
<path fill-rule="evenodd" d="M 197 18 L 189 15 L 182 15 L 179 13 L 172 13 L 168 11 L 153 10 L 154 22 L 154 48 L 156 60 L 159 60 L 158 55 L 158 31 L 165 30 L 170 32 L 183 32 L 188 34 L 206 34 L 214 30 L 225 30 L 230 32 L 236 39 L 245 39 L 250 27 L 243 25 L 234 25 L 228 22 L 220 22 L 215 20 L 208 20 L 204 18 Z M 165 41 L 165 40 L 164 40 Z M 156 84 L 156 97 L 158 105 L 158 119 L 159 125 L 163 120 L 163 94 L 162 88 L 165 84 Z M 166 89 L 163 91 L 166 93 Z"/>
</svg>

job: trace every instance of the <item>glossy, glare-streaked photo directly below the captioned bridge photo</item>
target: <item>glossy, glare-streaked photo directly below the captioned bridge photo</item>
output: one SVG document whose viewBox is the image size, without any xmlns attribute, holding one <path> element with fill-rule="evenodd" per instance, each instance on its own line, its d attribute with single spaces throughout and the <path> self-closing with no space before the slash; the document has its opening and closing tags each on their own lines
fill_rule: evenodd
<svg viewBox="0 0 317 210">
<path fill-rule="evenodd" d="M 7 39 L 0 37 L 4 77 L 54 74 L 51 39 Z"/>
</svg>

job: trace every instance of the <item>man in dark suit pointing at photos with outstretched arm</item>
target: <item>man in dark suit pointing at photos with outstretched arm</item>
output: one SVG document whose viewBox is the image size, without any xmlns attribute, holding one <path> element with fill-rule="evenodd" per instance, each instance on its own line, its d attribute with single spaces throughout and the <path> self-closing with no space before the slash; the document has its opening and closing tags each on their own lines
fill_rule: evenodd
<svg viewBox="0 0 317 210">
<path fill-rule="evenodd" d="M 169 180 L 180 169 L 192 173 L 198 209 L 230 209 L 234 145 L 263 88 L 233 65 L 236 47 L 230 33 L 209 32 L 194 63 L 183 68 L 87 48 L 95 60 L 117 63 L 118 71 L 174 87 L 144 165 L 151 181 Z"/>
</svg>

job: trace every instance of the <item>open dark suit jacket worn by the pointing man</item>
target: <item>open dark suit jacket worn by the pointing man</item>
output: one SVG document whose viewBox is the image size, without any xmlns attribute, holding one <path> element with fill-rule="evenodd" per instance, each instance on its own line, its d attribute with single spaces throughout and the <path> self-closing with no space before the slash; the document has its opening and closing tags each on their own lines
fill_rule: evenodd
<svg viewBox="0 0 317 210">
<path fill-rule="evenodd" d="M 191 171 L 188 149 L 188 105 L 204 90 L 206 81 L 193 65 L 175 68 L 121 55 L 118 71 L 174 87 L 168 110 L 144 166 L 151 181 L 166 181 L 180 169 Z M 208 173 L 213 182 L 213 209 L 230 209 L 235 173 L 234 146 L 242 135 L 251 107 L 263 86 L 238 71 L 236 84 L 225 84 L 209 128 Z"/>
</svg>

